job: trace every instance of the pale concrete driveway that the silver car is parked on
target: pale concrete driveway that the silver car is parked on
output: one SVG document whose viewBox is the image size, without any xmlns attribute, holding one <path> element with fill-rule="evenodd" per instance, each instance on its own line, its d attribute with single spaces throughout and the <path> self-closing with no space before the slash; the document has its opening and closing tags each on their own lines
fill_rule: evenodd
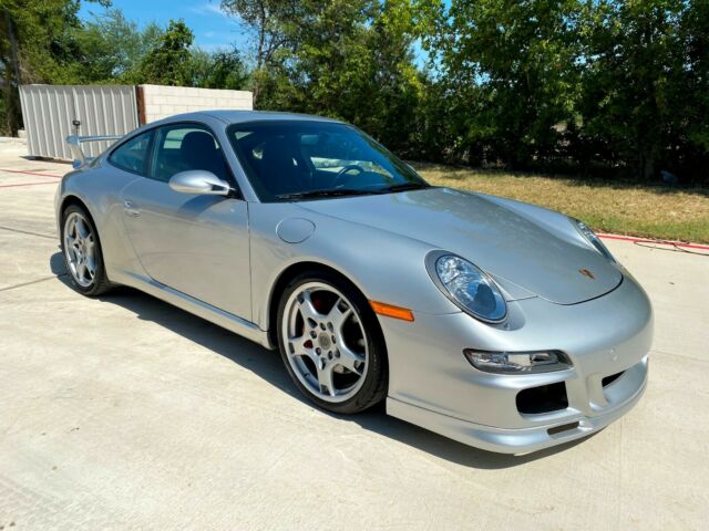
<svg viewBox="0 0 709 531">
<path fill-rule="evenodd" d="M 0 530 L 707 529 L 709 258 L 609 240 L 655 304 L 649 388 L 590 438 L 502 456 L 317 410 L 276 353 L 147 295 L 76 294 L 69 166 L 0 149 Z"/>
</svg>

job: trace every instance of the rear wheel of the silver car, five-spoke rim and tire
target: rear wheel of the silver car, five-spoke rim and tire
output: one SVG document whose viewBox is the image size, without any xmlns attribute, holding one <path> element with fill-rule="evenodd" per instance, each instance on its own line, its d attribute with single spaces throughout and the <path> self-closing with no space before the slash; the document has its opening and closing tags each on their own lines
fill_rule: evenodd
<svg viewBox="0 0 709 531">
<path fill-rule="evenodd" d="M 91 216 L 82 207 L 70 205 L 62 219 L 62 256 L 72 287 L 89 296 L 105 293 L 111 283 L 103 266 L 99 232 Z"/>
</svg>

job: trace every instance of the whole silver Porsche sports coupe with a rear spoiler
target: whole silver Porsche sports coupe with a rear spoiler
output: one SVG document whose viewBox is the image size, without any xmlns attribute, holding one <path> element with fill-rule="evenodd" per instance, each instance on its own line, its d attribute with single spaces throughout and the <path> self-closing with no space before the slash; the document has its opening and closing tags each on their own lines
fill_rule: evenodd
<svg viewBox="0 0 709 531">
<path fill-rule="evenodd" d="M 214 111 L 143 126 L 56 194 L 73 287 L 125 284 L 279 348 L 340 414 L 524 454 L 643 394 L 653 311 L 583 222 L 430 186 L 341 122 Z"/>
</svg>

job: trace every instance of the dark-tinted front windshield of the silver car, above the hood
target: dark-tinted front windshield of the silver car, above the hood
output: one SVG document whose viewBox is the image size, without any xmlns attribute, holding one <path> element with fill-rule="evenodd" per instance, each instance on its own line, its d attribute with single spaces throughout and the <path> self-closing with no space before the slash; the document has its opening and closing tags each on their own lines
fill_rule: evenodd
<svg viewBox="0 0 709 531">
<path fill-rule="evenodd" d="M 429 185 L 357 128 L 315 121 L 235 124 L 229 139 L 265 201 L 386 194 Z"/>
</svg>

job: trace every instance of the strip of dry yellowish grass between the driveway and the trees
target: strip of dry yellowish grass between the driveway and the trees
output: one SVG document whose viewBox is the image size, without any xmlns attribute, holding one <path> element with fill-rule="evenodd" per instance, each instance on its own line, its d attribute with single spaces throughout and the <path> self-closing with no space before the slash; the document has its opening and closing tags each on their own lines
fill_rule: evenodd
<svg viewBox="0 0 709 531">
<path fill-rule="evenodd" d="M 414 163 L 432 185 L 532 202 L 602 232 L 709 243 L 709 190 Z"/>
</svg>

